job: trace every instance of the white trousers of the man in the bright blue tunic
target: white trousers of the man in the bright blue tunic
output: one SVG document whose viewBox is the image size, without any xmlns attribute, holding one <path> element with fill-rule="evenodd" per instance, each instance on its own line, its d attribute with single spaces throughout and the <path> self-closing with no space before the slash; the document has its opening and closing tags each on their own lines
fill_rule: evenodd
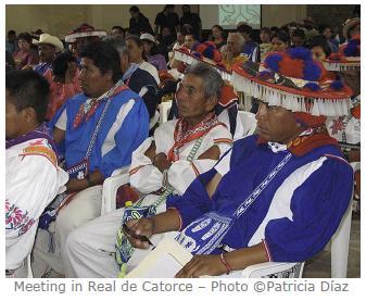
<svg viewBox="0 0 366 301">
<path fill-rule="evenodd" d="M 71 231 L 100 216 L 102 186 L 93 186 L 78 192 L 63 208 L 49 230 L 38 229 L 34 248 L 34 275 L 40 277 L 49 268 L 64 275 L 66 239 Z M 50 248 L 52 247 L 52 248 Z M 53 250 L 52 250 L 53 249 Z"/>
</svg>

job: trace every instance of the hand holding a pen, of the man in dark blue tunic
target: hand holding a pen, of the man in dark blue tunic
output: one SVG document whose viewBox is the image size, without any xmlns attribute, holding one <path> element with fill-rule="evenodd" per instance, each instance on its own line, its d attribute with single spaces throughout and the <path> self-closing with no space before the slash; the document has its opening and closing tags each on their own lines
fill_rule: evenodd
<svg viewBox="0 0 366 301">
<path fill-rule="evenodd" d="M 130 220 L 126 222 L 126 225 L 136 235 L 146 236 L 147 238 L 150 238 L 155 230 L 155 223 L 152 218 L 142 217 L 140 220 Z M 150 246 L 147 241 L 141 241 L 137 238 L 134 238 L 128 233 L 124 231 L 124 234 L 135 248 L 149 249 Z"/>
</svg>

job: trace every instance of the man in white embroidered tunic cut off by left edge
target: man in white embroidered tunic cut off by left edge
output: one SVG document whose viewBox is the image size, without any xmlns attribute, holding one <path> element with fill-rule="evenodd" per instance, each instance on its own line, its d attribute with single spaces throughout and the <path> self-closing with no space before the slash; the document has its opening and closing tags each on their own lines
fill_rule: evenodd
<svg viewBox="0 0 366 301">
<path fill-rule="evenodd" d="M 45 121 L 49 85 L 34 71 L 7 74 L 7 276 L 22 277 L 45 208 L 67 179 Z"/>
</svg>

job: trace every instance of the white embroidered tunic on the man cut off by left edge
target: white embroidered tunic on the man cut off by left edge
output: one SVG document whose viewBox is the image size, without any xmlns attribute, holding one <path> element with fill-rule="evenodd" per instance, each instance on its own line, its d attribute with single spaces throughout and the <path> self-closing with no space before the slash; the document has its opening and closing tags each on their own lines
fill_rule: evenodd
<svg viewBox="0 0 366 301">
<path fill-rule="evenodd" d="M 15 269 L 31 251 L 39 216 L 68 175 L 50 140 L 36 131 L 7 141 L 5 160 L 7 268 Z"/>
</svg>

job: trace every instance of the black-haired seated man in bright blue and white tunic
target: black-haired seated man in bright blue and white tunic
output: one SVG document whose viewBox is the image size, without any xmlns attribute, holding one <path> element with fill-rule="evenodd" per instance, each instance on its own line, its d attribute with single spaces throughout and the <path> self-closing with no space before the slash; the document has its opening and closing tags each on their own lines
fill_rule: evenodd
<svg viewBox="0 0 366 301">
<path fill-rule="evenodd" d="M 71 98 L 52 121 L 55 140 L 64 142 L 65 167 L 71 175 L 66 187 L 73 199 L 55 221 L 54 252 L 48 251 L 49 236 L 41 229 L 35 251 L 60 274 L 59 252 L 63 255 L 68 233 L 100 215 L 103 180 L 130 164 L 132 151 L 149 131 L 143 100 L 121 80 L 117 51 L 99 41 L 87 46 L 80 58 L 84 92 Z"/>
</svg>

